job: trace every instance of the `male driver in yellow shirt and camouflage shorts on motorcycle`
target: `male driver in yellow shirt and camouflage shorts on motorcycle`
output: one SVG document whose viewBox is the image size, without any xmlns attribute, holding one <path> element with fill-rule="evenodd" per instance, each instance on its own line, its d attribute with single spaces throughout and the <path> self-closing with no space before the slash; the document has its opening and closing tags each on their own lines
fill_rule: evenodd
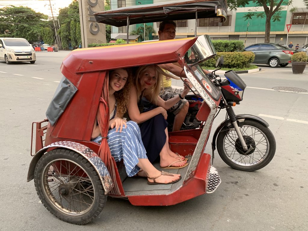
<svg viewBox="0 0 308 231">
<path fill-rule="evenodd" d="M 158 35 L 160 41 L 162 40 L 169 40 L 175 38 L 175 32 L 176 32 L 176 23 L 172 20 L 166 20 L 160 23 Z M 186 78 L 186 75 L 182 69 L 182 67 L 177 66 L 173 63 L 166 63 L 166 64 L 160 64 L 161 68 L 163 68 L 165 71 L 170 71 L 172 74 L 176 76 L 180 76 L 182 78 Z M 205 73 L 209 73 L 208 71 L 205 71 Z M 185 80 L 188 82 L 188 80 Z M 173 122 L 173 129 L 172 131 L 179 131 L 182 127 L 182 124 L 185 120 L 186 114 L 188 112 L 189 103 L 186 99 L 184 99 L 181 96 L 182 89 L 177 89 L 171 87 L 171 78 L 168 78 L 164 76 L 163 78 L 164 83 L 164 91 L 160 93 L 160 97 L 164 99 L 165 101 L 168 99 L 171 99 L 177 95 L 180 96 L 180 101 L 177 102 L 173 107 L 168 109 L 168 112 L 172 112 L 175 115 L 174 122 Z"/>
</svg>

